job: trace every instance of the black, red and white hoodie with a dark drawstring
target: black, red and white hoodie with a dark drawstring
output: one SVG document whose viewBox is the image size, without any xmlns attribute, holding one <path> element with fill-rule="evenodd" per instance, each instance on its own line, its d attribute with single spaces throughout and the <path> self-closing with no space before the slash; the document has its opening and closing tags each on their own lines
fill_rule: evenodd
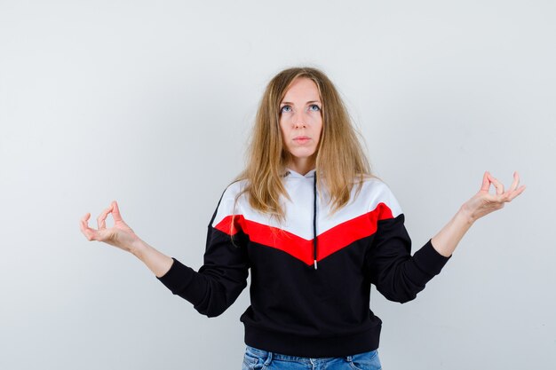
<svg viewBox="0 0 556 370">
<path fill-rule="evenodd" d="M 371 284 L 406 303 L 449 257 L 431 244 L 410 255 L 404 216 L 390 189 L 368 178 L 345 207 L 330 213 L 315 171 L 283 177 L 290 199 L 280 222 L 250 208 L 245 181 L 226 188 L 209 224 L 198 272 L 174 259 L 159 278 L 195 310 L 214 317 L 247 286 L 245 343 L 306 358 L 349 356 L 378 348 L 382 321 L 369 309 Z"/>
</svg>

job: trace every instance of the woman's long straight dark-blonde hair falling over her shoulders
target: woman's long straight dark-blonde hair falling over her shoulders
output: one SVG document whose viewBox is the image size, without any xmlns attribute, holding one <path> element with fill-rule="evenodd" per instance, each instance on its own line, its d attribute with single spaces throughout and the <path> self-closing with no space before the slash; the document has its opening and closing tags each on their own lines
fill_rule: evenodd
<svg viewBox="0 0 556 370">
<path fill-rule="evenodd" d="M 282 177 L 290 162 L 280 130 L 280 104 L 298 78 L 311 79 L 321 96 L 322 133 L 315 153 L 315 172 L 319 189 L 324 186 L 330 193 L 332 212 L 347 204 L 353 185 L 358 184 L 359 192 L 362 180 L 372 177 L 346 106 L 330 79 L 313 67 L 285 69 L 266 86 L 255 118 L 247 166 L 236 178 L 247 180 L 242 193 L 249 195 L 253 209 L 279 220 L 284 218 L 280 199 L 289 199 Z"/>
</svg>

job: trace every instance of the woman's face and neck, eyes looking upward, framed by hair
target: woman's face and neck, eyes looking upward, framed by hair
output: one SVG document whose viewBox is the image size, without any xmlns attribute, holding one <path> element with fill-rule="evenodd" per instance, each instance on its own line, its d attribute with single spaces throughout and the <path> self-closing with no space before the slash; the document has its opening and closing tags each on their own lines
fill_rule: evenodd
<svg viewBox="0 0 556 370">
<path fill-rule="evenodd" d="M 283 142 L 298 172 L 312 169 L 314 153 L 322 131 L 322 102 L 313 80 L 299 77 L 290 85 L 280 103 Z"/>
</svg>

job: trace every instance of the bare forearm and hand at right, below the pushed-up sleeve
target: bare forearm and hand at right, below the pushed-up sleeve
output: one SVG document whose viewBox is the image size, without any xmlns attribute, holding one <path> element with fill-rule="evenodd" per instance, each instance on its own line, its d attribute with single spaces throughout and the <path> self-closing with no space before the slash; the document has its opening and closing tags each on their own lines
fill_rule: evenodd
<svg viewBox="0 0 556 370">
<path fill-rule="evenodd" d="M 496 194 L 488 193 L 491 184 L 495 186 Z M 476 220 L 490 212 L 504 208 L 506 202 L 512 201 L 523 193 L 525 185 L 518 188 L 519 184 L 520 175 L 514 172 L 512 185 L 508 191 L 504 192 L 504 185 L 490 173 L 485 172 L 482 177 L 481 190 L 472 199 L 466 201 L 449 223 L 433 237 L 433 248 L 442 256 L 451 256 L 457 248 L 459 240 L 464 237 L 465 232 Z"/>
</svg>

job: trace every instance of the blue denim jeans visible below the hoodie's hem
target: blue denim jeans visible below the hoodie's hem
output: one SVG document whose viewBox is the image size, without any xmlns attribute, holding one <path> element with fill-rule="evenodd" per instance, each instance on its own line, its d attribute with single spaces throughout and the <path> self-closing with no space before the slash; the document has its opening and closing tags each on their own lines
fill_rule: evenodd
<svg viewBox="0 0 556 370">
<path fill-rule="evenodd" d="M 247 346 L 242 370 L 380 370 L 377 350 L 338 358 L 300 358 Z"/>
</svg>

